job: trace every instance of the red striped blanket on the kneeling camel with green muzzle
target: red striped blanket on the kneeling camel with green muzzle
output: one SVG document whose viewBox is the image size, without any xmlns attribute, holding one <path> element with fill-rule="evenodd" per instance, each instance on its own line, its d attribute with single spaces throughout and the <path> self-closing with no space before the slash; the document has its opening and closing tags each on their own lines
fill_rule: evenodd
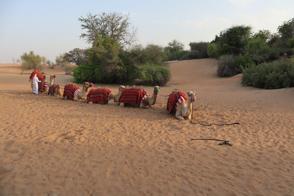
<svg viewBox="0 0 294 196">
<path fill-rule="evenodd" d="M 140 107 L 140 103 L 148 96 L 148 93 L 141 88 L 126 88 L 118 98 L 118 103 L 135 103 Z"/>
</svg>

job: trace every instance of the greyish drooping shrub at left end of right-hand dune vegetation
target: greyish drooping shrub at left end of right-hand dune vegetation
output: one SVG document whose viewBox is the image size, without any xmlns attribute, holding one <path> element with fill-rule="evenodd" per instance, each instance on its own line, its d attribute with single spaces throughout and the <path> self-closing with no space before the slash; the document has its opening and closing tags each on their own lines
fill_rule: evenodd
<svg viewBox="0 0 294 196">
<path fill-rule="evenodd" d="M 230 77 L 237 73 L 235 69 L 235 57 L 233 55 L 222 55 L 218 63 L 218 77 Z"/>
</svg>

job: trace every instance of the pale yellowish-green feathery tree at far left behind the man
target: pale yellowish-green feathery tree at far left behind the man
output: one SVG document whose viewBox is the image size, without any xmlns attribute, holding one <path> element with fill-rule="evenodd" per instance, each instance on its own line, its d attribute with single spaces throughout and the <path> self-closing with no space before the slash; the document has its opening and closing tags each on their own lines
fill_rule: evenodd
<svg viewBox="0 0 294 196">
<path fill-rule="evenodd" d="M 34 54 L 34 51 L 24 53 L 17 59 L 16 62 L 21 63 L 21 74 L 26 70 L 38 69 L 40 72 L 44 72 L 46 58 L 38 54 Z"/>
</svg>

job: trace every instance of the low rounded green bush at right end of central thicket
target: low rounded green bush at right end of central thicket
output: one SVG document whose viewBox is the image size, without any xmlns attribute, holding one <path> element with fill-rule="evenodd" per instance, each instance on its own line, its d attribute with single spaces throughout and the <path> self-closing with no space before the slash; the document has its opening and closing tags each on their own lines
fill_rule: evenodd
<svg viewBox="0 0 294 196">
<path fill-rule="evenodd" d="M 165 66 L 144 63 L 138 67 L 138 79 L 148 86 L 163 86 L 171 78 L 171 71 Z"/>
</svg>

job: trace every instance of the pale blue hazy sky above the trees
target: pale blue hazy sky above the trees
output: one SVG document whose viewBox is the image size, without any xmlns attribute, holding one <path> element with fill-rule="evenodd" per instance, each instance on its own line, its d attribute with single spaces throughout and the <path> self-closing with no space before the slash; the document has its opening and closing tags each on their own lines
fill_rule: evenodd
<svg viewBox="0 0 294 196">
<path fill-rule="evenodd" d="M 130 13 L 143 46 L 167 46 L 176 39 L 188 50 L 190 42 L 210 42 L 234 25 L 277 33 L 278 26 L 294 17 L 294 1 L 0 0 L 0 63 L 13 63 L 30 51 L 55 61 L 74 48 L 89 48 L 79 38 L 84 30 L 78 18 L 102 12 Z"/>
</svg>

